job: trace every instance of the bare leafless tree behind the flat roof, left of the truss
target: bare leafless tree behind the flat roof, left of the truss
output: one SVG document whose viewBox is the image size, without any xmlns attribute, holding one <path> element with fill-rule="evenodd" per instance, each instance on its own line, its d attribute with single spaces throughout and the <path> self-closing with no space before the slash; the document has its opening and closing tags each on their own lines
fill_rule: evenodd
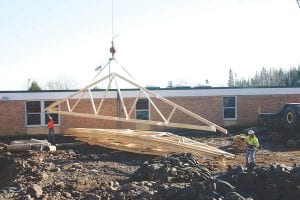
<svg viewBox="0 0 300 200">
<path fill-rule="evenodd" d="M 65 76 L 49 81 L 46 84 L 46 87 L 49 90 L 70 90 L 77 89 L 77 86 L 78 83 L 75 80 Z"/>
</svg>

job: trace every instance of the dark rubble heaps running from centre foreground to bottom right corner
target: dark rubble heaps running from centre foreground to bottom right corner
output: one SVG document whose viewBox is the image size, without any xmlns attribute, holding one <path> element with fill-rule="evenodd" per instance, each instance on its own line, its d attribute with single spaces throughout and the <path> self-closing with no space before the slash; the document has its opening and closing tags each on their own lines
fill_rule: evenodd
<svg viewBox="0 0 300 200">
<path fill-rule="evenodd" d="M 157 188 L 155 199 L 300 199 L 299 166 L 271 165 L 253 173 L 237 166 L 213 176 L 193 156 L 176 154 L 145 162 L 132 180 L 155 185 L 148 189 Z"/>
</svg>

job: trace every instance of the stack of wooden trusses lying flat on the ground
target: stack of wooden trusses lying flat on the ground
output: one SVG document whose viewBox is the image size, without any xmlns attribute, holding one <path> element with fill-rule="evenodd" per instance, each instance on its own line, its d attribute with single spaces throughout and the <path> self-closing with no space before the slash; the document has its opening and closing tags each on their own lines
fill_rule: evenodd
<svg viewBox="0 0 300 200">
<path fill-rule="evenodd" d="M 148 155 L 169 155 L 189 152 L 197 157 L 234 158 L 233 154 L 207 144 L 168 132 L 129 129 L 70 128 L 65 132 L 77 140 L 120 151 Z"/>
</svg>

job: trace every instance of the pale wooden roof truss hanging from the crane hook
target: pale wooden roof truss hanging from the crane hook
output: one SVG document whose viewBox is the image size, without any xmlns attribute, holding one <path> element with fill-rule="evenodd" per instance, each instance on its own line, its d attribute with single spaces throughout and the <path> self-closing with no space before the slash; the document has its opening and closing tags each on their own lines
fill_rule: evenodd
<svg viewBox="0 0 300 200">
<path fill-rule="evenodd" d="M 119 81 L 125 81 L 126 83 L 129 83 L 131 86 L 134 86 L 138 89 L 138 94 L 135 97 L 134 102 L 131 106 L 126 106 L 124 98 L 123 98 L 123 91 L 120 89 L 118 82 Z M 101 97 L 100 103 L 96 104 L 95 99 L 93 97 L 93 88 L 95 88 L 99 83 L 101 82 L 108 82 L 106 89 L 104 90 L 103 96 Z M 112 88 L 112 84 L 115 84 L 118 96 L 120 98 L 122 109 L 125 113 L 125 117 L 120 116 L 108 116 L 101 114 L 101 110 L 103 109 L 104 101 L 107 99 L 107 95 L 110 92 L 110 89 Z M 92 106 L 92 112 L 90 113 L 82 113 L 77 112 L 76 108 L 79 104 L 79 102 L 88 95 L 88 99 L 90 99 L 90 103 Z M 155 111 L 159 114 L 161 120 L 160 121 L 153 121 L 153 120 L 140 120 L 136 119 L 135 115 L 133 116 L 133 111 L 135 110 L 135 106 L 139 100 L 139 98 L 147 98 L 151 104 L 151 106 L 155 109 Z M 77 99 L 76 102 L 71 105 L 71 99 Z M 153 99 L 158 99 L 159 101 L 169 105 L 172 107 L 172 111 L 168 114 L 163 113 L 159 107 L 156 105 L 156 103 L 153 101 Z M 67 110 L 58 109 L 59 104 L 65 103 L 67 106 Z M 100 78 L 97 81 L 92 82 L 91 84 L 87 85 L 83 89 L 79 90 L 78 92 L 75 92 L 74 94 L 56 101 L 49 105 L 46 109 L 46 112 L 48 113 L 59 113 L 63 115 L 71 115 L 71 116 L 78 116 L 78 117 L 88 117 L 88 118 L 97 118 L 97 119 L 104 119 L 104 120 L 114 120 L 114 121 L 121 121 L 121 122 L 131 122 L 131 123 L 140 123 L 140 124 L 148 124 L 148 125 L 156 125 L 156 126 L 165 126 L 165 127 L 174 127 L 174 128 L 187 128 L 187 129 L 196 129 L 196 130 L 205 130 L 205 131 L 216 131 L 219 130 L 223 133 L 227 133 L 226 129 L 214 124 L 213 122 L 210 122 L 209 120 L 201 117 L 200 115 L 191 112 L 190 110 L 185 109 L 184 107 L 177 105 L 176 103 L 154 93 L 153 91 L 148 90 L 147 88 L 135 83 L 134 81 L 131 81 L 124 76 L 121 76 L 115 72 L 109 73 L 108 75 Z M 172 122 L 172 117 L 174 116 L 175 112 L 181 112 L 184 113 L 196 120 L 199 121 L 199 124 L 201 125 L 194 125 L 194 124 L 186 124 L 186 123 L 175 123 Z M 204 125 L 202 125 L 204 124 Z"/>
</svg>

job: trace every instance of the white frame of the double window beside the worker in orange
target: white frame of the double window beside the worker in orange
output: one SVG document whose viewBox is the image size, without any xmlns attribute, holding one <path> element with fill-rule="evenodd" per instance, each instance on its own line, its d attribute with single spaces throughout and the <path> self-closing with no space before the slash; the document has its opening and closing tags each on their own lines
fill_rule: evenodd
<svg viewBox="0 0 300 200">
<path fill-rule="evenodd" d="M 46 113 L 45 113 L 45 102 L 49 102 L 49 101 L 55 101 L 55 100 L 30 100 L 30 101 L 25 101 L 25 127 L 45 127 L 47 126 L 47 123 L 45 123 L 45 120 L 46 120 Z M 40 102 L 40 106 L 41 106 L 41 111 L 38 112 L 38 113 L 27 113 L 27 102 Z M 60 110 L 60 105 L 58 105 L 58 110 Z M 28 114 L 39 114 L 40 115 L 40 124 L 32 124 L 32 125 L 29 125 L 27 124 L 27 115 Z M 58 115 L 58 123 L 55 123 L 54 125 L 55 126 L 60 126 L 60 114 L 57 114 Z"/>
</svg>

